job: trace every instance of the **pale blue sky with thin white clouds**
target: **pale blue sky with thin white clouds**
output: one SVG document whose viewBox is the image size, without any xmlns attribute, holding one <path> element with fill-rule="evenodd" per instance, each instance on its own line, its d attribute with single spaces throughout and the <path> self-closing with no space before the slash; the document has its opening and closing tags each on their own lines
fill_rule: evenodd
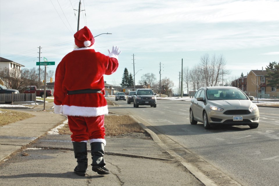
<svg viewBox="0 0 279 186">
<path fill-rule="evenodd" d="M 41 57 L 55 61 L 73 50 L 79 0 L 0 1 L 0 56 L 37 67 Z M 121 82 L 124 68 L 136 83 L 143 74 L 159 80 L 170 78 L 179 85 L 181 59 L 191 68 L 205 53 L 227 60 L 230 76 L 246 75 L 279 61 L 279 1 L 101 1 L 81 0 L 80 28 L 87 26 L 95 38 L 95 49 L 108 54 L 120 47 L 119 68 L 105 81 Z M 76 16 L 75 16 L 76 14 Z M 86 14 L 86 16 L 85 16 Z M 78 65 L 78 64 L 77 64 Z M 92 67 L 93 68 L 93 67 Z M 142 70 L 140 70 L 142 69 Z"/>
</svg>

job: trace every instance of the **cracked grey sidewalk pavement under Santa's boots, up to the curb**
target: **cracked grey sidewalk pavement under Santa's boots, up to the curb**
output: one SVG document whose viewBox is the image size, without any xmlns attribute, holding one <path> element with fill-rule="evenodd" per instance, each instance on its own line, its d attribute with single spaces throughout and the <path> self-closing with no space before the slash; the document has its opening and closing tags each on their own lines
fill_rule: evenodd
<svg viewBox="0 0 279 186">
<path fill-rule="evenodd" d="M 47 103 L 46 110 L 52 105 Z M 70 135 L 46 133 L 66 117 L 41 112 L 42 108 L 20 110 L 35 117 L 0 128 L 0 185 L 204 185 L 153 140 L 129 137 L 105 138 L 109 175 L 91 170 L 88 150 L 89 171 L 85 177 L 77 176 Z M 14 153 L 24 146 L 28 148 Z"/>
</svg>

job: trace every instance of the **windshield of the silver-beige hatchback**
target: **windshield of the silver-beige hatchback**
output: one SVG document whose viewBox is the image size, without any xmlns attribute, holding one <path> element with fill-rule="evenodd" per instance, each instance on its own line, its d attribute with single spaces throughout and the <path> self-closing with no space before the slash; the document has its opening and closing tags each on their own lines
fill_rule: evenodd
<svg viewBox="0 0 279 186">
<path fill-rule="evenodd" d="M 206 96 L 208 100 L 248 99 L 239 89 L 208 89 Z"/>
</svg>

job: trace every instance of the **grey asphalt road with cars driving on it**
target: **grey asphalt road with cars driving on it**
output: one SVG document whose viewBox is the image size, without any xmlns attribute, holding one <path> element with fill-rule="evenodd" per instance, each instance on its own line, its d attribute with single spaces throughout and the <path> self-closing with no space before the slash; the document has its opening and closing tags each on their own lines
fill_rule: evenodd
<svg viewBox="0 0 279 186">
<path fill-rule="evenodd" d="M 259 107 L 260 124 L 256 129 L 222 126 L 205 130 L 201 123 L 190 124 L 190 101 L 158 100 L 157 108 L 134 108 L 127 101 L 115 103 L 118 107 L 111 112 L 117 109 L 141 118 L 155 133 L 173 140 L 237 183 L 279 185 L 279 108 Z M 180 155 L 183 157 L 183 153 Z"/>
</svg>

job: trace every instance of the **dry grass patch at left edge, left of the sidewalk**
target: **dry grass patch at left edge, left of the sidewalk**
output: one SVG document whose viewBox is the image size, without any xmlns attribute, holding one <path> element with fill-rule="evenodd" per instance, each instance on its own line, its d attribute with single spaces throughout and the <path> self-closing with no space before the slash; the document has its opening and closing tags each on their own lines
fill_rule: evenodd
<svg viewBox="0 0 279 186">
<path fill-rule="evenodd" d="M 17 112 L 8 109 L 0 109 L 0 126 L 4 126 L 10 123 L 14 123 L 16 121 L 24 120 L 34 117 L 34 115 L 25 113 L 25 112 Z"/>
</svg>

